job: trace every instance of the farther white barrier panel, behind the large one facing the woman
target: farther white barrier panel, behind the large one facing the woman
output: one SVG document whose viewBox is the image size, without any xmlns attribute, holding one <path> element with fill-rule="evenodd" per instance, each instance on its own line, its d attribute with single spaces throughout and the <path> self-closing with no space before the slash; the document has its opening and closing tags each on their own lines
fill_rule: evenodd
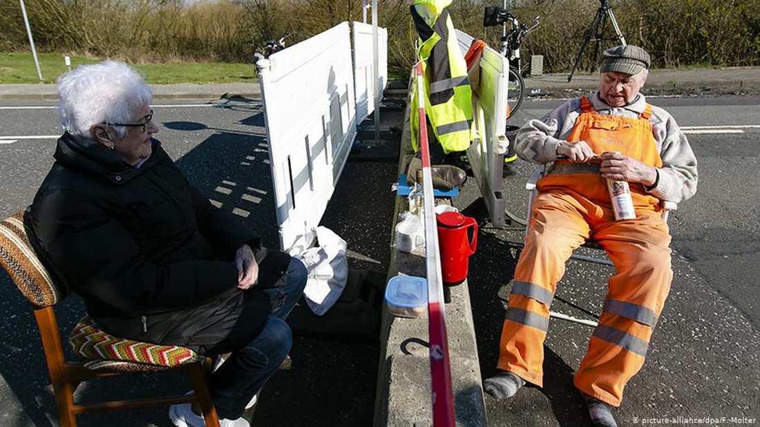
<svg viewBox="0 0 760 427">
<path fill-rule="evenodd" d="M 353 23 L 353 76 L 356 123 L 375 111 L 375 93 L 382 99 L 388 86 L 388 30 L 378 27 L 378 82 L 372 85 L 372 25 Z M 374 89 L 373 89 L 374 88 Z"/>
</svg>

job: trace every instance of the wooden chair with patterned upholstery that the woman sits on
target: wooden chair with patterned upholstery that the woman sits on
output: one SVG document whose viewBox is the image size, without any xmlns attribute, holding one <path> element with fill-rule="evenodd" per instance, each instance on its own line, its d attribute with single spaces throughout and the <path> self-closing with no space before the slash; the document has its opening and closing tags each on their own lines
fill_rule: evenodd
<svg viewBox="0 0 760 427">
<path fill-rule="evenodd" d="M 63 343 L 53 306 L 70 294 L 55 283 L 37 259 L 24 231 L 24 211 L 0 221 L 0 264 L 32 305 L 40 328 L 43 350 L 62 427 L 76 427 L 76 415 L 109 410 L 132 410 L 197 401 L 206 425 L 219 427 L 219 419 L 207 387 L 210 361 L 185 347 L 162 346 L 113 337 L 84 316 L 70 336 L 80 362 L 65 360 Z M 185 369 L 195 394 L 133 398 L 99 403 L 75 403 L 74 391 L 81 381 L 124 372 Z"/>
</svg>

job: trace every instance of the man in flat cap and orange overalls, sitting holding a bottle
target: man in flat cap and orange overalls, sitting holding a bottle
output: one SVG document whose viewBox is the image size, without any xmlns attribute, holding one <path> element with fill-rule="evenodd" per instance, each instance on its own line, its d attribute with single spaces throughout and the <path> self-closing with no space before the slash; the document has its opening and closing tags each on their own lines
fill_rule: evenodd
<svg viewBox="0 0 760 427">
<path fill-rule="evenodd" d="M 616 425 L 623 388 L 644 364 L 670 290 L 670 234 L 660 201 L 697 189 L 697 160 L 673 117 L 647 103 L 649 54 L 638 46 L 603 53 L 599 89 L 519 131 L 518 155 L 544 165 L 499 345 L 499 372 L 484 381 L 497 399 L 543 385 L 543 341 L 556 283 L 587 239 L 616 268 L 599 325 L 575 373 L 594 425 Z M 616 221 L 606 180 L 627 181 L 635 218 Z"/>
</svg>

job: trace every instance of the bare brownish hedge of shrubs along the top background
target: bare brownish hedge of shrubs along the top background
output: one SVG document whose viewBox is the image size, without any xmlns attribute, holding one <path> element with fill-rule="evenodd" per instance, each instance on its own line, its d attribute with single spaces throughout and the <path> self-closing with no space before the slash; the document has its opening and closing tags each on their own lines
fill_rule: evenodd
<svg viewBox="0 0 760 427">
<path fill-rule="evenodd" d="M 25 0 L 41 52 L 76 52 L 128 61 L 252 61 L 255 46 L 290 33 L 289 44 L 344 20 L 362 19 L 361 0 Z M 454 25 L 490 46 L 500 27 L 483 28 L 483 8 L 502 0 L 456 0 Z M 541 27 L 524 41 L 524 57 L 543 55 L 548 72 L 566 72 L 600 2 L 511 0 L 515 15 Z M 611 0 L 623 35 L 651 52 L 655 67 L 760 64 L 760 0 Z M 388 61 L 406 75 L 416 32 L 408 0 L 379 1 L 388 28 Z M 0 50 L 27 50 L 17 0 L 0 0 Z M 613 30 L 607 23 L 606 36 Z M 601 49 L 617 44 L 602 43 Z M 595 64 L 593 43 L 581 69 Z"/>
</svg>

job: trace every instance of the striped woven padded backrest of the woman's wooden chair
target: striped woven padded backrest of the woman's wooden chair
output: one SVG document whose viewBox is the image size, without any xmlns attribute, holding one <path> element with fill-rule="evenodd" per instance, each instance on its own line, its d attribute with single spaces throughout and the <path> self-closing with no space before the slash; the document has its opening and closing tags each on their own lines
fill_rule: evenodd
<svg viewBox="0 0 760 427">
<path fill-rule="evenodd" d="M 68 295 L 34 253 L 24 230 L 24 211 L 0 221 L 0 264 L 37 309 L 53 306 Z"/>
</svg>

